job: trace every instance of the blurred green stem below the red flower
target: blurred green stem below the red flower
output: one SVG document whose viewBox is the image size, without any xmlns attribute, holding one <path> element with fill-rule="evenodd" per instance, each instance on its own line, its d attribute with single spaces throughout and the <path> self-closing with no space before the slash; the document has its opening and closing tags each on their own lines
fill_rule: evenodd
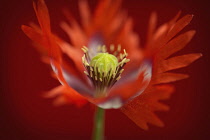
<svg viewBox="0 0 210 140">
<path fill-rule="evenodd" d="M 105 110 L 98 107 L 95 112 L 92 140 L 104 140 L 104 114 Z"/>
</svg>

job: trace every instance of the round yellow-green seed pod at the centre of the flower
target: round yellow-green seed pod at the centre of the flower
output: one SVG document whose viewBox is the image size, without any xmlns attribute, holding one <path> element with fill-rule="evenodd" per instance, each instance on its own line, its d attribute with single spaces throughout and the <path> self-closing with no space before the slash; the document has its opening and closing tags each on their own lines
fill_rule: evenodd
<svg viewBox="0 0 210 140">
<path fill-rule="evenodd" d="M 100 77 L 102 73 L 106 75 L 109 71 L 112 75 L 118 66 L 118 59 L 112 54 L 98 53 L 92 58 L 90 65 L 93 66 L 95 70 L 98 69 Z"/>
</svg>

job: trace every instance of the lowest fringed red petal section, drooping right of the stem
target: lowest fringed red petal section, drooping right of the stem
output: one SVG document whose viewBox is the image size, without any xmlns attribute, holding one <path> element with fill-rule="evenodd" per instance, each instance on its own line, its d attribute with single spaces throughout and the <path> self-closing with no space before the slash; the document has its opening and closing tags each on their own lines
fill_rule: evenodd
<svg viewBox="0 0 210 140">
<path fill-rule="evenodd" d="M 148 130 L 148 123 L 163 127 L 163 122 L 158 119 L 154 111 L 168 110 L 159 100 L 170 97 L 173 87 L 169 85 L 153 86 L 143 94 L 125 104 L 121 111 L 142 129 Z"/>
</svg>

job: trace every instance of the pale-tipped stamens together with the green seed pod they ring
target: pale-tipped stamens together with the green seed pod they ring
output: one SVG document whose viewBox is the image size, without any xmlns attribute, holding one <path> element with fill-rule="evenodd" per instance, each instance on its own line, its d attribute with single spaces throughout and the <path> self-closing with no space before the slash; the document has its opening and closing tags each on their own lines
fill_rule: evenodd
<svg viewBox="0 0 210 140">
<path fill-rule="evenodd" d="M 84 73 L 92 81 L 95 88 L 95 97 L 107 96 L 109 90 L 120 78 L 124 71 L 123 67 L 130 59 L 125 49 L 121 53 L 121 46 L 115 49 L 114 45 L 107 48 L 105 45 L 98 46 L 95 56 L 91 57 L 91 51 L 83 47 L 84 56 L 82 62 L 85 67 Z"/>
</svg>

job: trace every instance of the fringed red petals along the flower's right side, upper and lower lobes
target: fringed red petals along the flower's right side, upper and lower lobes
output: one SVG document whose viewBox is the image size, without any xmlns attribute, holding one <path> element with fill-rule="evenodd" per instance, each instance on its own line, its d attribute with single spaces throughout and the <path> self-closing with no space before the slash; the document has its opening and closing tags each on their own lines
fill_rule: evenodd
<svg viewBox="0 0 210 140">
<path fill-rule="evenodd" d="M 201 57 L 201 54 L 188 54 L 167 59 L 183 49 L 195 34 L 195 31 L 192 30 L 175 37 L 192 20 L 192 15 L 186 15 L 177 21 L 179 15 L 180 12 L 170 22 L 155 31 L 156 15 L 152 14 L 145 51 L 145 57 L 153 60 L 150 86 L 144 93 L 122 107 L 122 112 L 143 129 L 148 129 L 147 123 L 163 126 L 154 111 L 169 109 L 168 106 L 158 102 L 169 98 L 173 92 L 173 87 L 166 84 L 188 78 L 186 74 L 167 71 L 188 66 Z"/>
</svg>

